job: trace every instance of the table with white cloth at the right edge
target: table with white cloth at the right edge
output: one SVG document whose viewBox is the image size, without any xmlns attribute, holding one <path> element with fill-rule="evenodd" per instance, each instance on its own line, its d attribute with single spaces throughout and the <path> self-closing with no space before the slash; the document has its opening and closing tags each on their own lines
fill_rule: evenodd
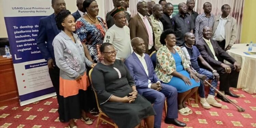
<svg viewBox="0 0 256 128">
<path fill-rule="evenodd" d="M 256 93 L 256 55 L 246 55 L 246 44 L 234 44 L 227 53 L 241 64 L 237 88 L 242 88 L 247 93 Z M 252 52 L 256 52 L 253 47 Z"/>
</svg>

